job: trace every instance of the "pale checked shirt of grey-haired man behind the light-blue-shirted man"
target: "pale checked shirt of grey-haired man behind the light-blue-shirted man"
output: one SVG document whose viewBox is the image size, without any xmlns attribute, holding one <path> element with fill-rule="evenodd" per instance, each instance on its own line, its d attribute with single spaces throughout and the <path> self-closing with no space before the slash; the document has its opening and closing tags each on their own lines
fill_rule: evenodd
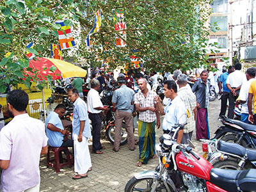
<svg viewBox="0 0 256 192">
<path fill-rule="evenodd" d="M 181 100 L 183 100 L 186 109 L 189 111 L 189 118 L 187 116 L 186 122 L 188 123 L 184 127 L 184 133 L 189 133 L 195 131 L 195 115 L 194 109 L 196 108 L 196 95 L 186 88 L 186 86 L 179 89 L 178 95 Z"/>
</svg>

